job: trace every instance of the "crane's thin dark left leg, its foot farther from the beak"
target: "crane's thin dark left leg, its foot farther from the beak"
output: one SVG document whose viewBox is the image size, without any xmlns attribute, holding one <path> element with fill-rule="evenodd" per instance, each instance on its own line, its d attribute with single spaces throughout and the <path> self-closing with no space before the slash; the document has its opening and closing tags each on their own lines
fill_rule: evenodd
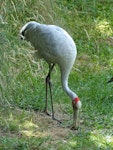
<svg viewBox="0 0 113 150">
<path fill-rule="evenodd" d="M 49 88 L 51 86 L 51 81 L 50 81 L 50 75 L 51 75 L 51 72 L 53 70 L 53 67 L 54 67 L 55 64 L 53 64 L 51 66 L 51 64 L 49 65 L 49 73 L 46 77 L 46 101 L 45 101 L 45 109 L 44 109 L 44 112 L 47 114 L 47 115 L 50 115 L 48 112 L 47 112 L 47 102 L 48 102 L 48 84 L 49 84 Z"/>
</svg>

